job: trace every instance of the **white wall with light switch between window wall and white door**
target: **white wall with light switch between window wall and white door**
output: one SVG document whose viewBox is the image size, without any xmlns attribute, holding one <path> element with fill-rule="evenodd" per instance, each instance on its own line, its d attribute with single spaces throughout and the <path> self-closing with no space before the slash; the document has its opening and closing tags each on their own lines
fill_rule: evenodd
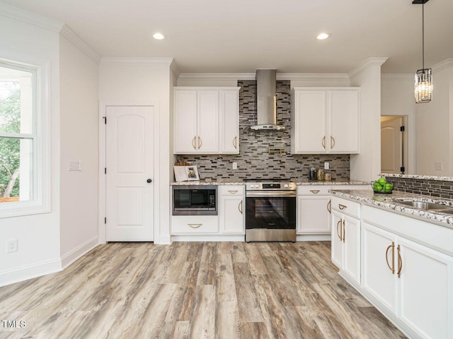
<svg viewBox="0 0 453 339">
<path fill-rule="evenodd" d="M 63 267 L 98 244 L 98 63 L 76 39 L 67 27 L 59 38 Z M 69 171 L 79 160 L 81 171 Z"/>
</svg>

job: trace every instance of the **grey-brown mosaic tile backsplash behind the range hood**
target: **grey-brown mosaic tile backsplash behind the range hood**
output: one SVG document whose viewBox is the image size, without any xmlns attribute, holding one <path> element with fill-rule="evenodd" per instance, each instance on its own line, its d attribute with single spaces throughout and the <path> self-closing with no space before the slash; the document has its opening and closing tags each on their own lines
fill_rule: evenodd
<svg viewBox="0 0 453 339">
<path fill-rule="evenodd" d="M 298 181 L 308 177 L 309 169 L 323 168 L 329 162 L 332 179 L 350 179 L 350 155 L 292 155 L 290 140 L 290 81 L 277 81 L 277 124 L 285 131 L 253 131 L 256 124 L 256 81 L 238 81 L 239 155 L 184 155 L 197 165 L 200 179 L 280 178 Z M 269 147 L 285 149 L 282 157 L 269 154 Z M 231 169 L 237 162 L 238 169 Z"/>
</svg>

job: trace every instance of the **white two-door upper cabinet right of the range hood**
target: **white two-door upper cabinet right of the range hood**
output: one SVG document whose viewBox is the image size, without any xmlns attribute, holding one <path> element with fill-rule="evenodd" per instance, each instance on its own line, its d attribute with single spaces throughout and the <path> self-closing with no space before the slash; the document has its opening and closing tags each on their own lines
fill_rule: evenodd
<svg viewBox="0 0 453 339">
<path fill-rule="evenodd" d="M 359 88 L 294 88 L 292 153 L 359 153 L 359 95 Z"/>
</svg>

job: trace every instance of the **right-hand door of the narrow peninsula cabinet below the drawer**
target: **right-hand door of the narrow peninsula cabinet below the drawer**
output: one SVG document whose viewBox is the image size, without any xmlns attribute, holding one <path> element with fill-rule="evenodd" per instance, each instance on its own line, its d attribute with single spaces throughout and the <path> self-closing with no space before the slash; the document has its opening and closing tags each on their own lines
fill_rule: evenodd
<svg viewBox="0 0 453 339">
<path fill-rule="evenodd" d="M 343 215 L 343 270 L 360 284 L 360 220 Z"/>
</svg>

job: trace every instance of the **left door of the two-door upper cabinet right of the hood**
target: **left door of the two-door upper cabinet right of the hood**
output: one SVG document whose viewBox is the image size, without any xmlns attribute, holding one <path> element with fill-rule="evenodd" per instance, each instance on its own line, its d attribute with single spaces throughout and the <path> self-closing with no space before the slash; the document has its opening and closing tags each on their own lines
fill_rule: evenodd
<svg viewBox="0 0 453 339">
<path fill-rule="evenodd" d="M 294 109 L 293 153 L 325 153 L 326 91 L 295 91 Z"/>
</svg>

